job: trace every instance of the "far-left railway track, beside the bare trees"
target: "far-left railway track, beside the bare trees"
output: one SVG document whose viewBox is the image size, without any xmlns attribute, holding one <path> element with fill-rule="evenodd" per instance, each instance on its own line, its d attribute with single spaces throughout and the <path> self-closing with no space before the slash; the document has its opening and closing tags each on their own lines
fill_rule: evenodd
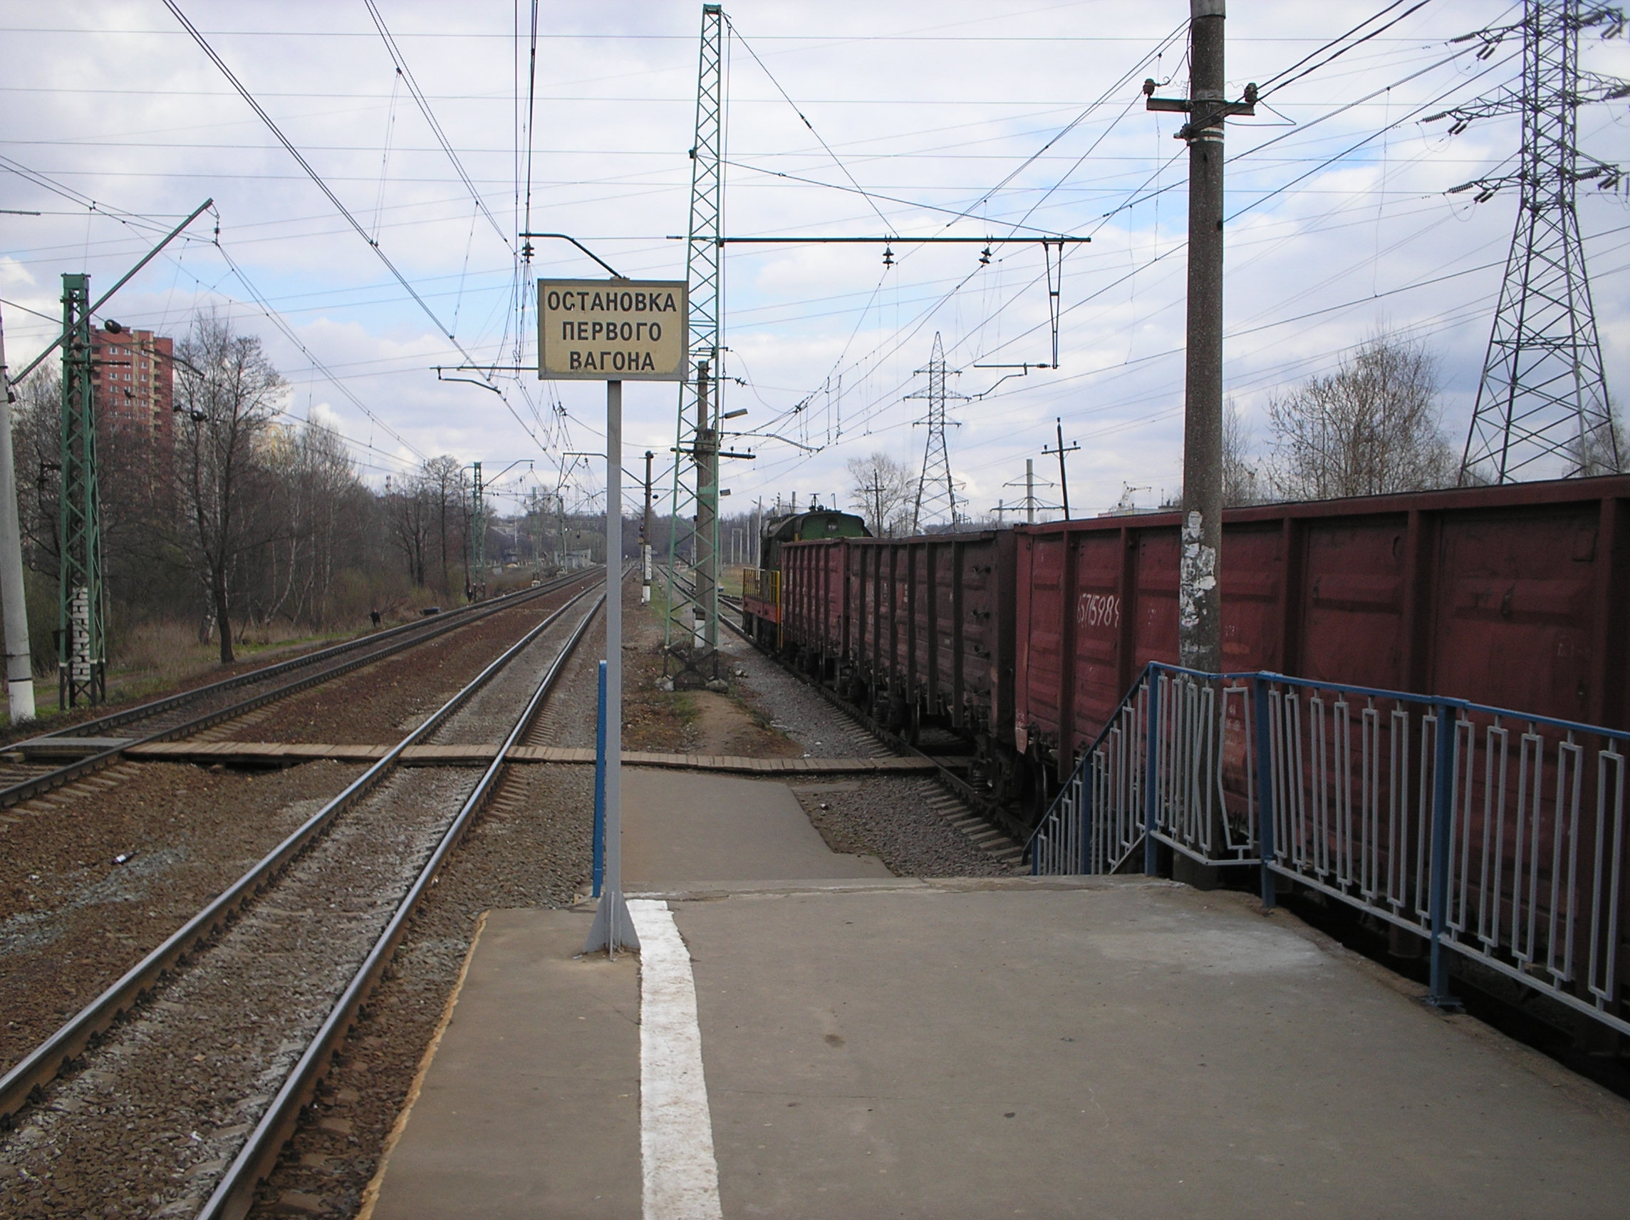
<svg viewBox="0 0 1630 1220">
<path fill-rule="evenodd" d="M 236 677 L 82 721 L 0 750 L 0 807 L 49 793 L 114 763 L 130 745 L 176 740 L 355 669 L 416 648 L 461 626 L 512 610 L 592 576 L 574 572 L 536 589 L 306 652 Z M 67 758 L 67 762 L 64 762 Z"/>
</svg>

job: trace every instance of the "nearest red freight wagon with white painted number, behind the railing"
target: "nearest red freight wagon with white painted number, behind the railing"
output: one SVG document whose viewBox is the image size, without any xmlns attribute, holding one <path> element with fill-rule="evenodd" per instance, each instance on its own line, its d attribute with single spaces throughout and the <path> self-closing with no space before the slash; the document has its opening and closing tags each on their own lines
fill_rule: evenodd
<svg viewBox="0 0 1630 1220">
<path fill-rule="evenodd" d="M 1222 664 L 1630 727 L 1630 478 L 1229 509 Z M 1177 514 L 1019 527 L 1022 754 L 1066 770 L 1177 661 Z"/>
</svg>

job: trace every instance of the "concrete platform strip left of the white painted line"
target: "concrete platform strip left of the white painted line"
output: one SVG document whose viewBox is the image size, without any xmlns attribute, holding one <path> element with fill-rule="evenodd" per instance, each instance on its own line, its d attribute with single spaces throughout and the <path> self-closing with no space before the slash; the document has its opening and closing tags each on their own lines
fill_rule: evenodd
<svg viewBox="0 0 1630 1220">
<path fill-rule="evenodd" d="M 363 1217 L 639 1215 L 639 959 L 574 957 L 592 918 L 486 917 Z"/>
</svg>

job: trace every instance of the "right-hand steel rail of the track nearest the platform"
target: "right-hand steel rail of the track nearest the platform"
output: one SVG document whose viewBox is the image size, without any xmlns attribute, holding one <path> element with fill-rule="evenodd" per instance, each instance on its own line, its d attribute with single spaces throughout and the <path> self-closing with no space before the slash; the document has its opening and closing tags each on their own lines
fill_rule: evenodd
<svg viewBox="0 0 1630 1220">
<path fill-rule="evenodd" d="M 391 956 L 396 953 L 396 946 L 408 933 L 408 922 L 412 918 L 414 910 L 429 892 L 430 886 L 435 884 L 437 874 L 442 871 L 447 858 L 453 853 L 453 848 L 456 848 L 460 840 L 465 837 L 465 830 L 497 788 L 510 750 L 513 750 L 531 729 L 533 721 L 543 709 L 544 700 L 554 688 L 556 679 L 566 667 L 566 662 L 577 648 L 577 643 L 588 631 L 588 625 L 593 621 L 595 615 L 600 613 L 603 605 L 605 594 L 600 594 L 593 608 L 584 615 L 584 621 L 577 625 L 577 630 L 566 641 L 559 656 L 540 679 L 538 688 L 531 693 L 526 706 L 515 719 L 513 727 L 504 739 L 504 745 L 499 747 L 492 763 L 486 768 L 486 771 L 482 771 L 481 781 L 465 801 L 458 816 L 453 817 L 447 832 L 442 835 L 442 840 L 437 843 L 430 858 L 419 871 L 417 879 L 408 889 L 408 894 L 396 905 L 394 915 L 391 915 L 390 923 L 385 925 L 385 931 L 380 933 L 380 938 L 373 943 L 368 956 L 363 957 L 362 966 L 357 969 L 350 984 L 341 993 L 334 1008 L 311 1037 L 311 1042 L 306 1044 L 305 1054 L 300 1055 L 300 1060 L 284 1078 L 282 1088 L 277 1090 L 277 1094 L 272 1098 L 271 1106 L 267 1106 L 266 1114 L 261 1116 L 254 1130 L 249 1132 L 243 1148 L 238 1150 L 238 1155 L 227 1168 L 227 1173 L 222 1176 L 220 1182 L 217 1182 L 214 1194 L 210 1194 L 202 1210 L 199 1210 L 197 1220 L 241 1220 L 254 1205 L 254 1187 L 261 1182 L 261 1179 L 271 1174 L 284 1145 L 293 1135 L 295 1127 L 300 1122 L 300 1111 L 308 1101 L 311 1101 L 316 1093 L 316 1086 L 321 1083 L 323 1076 L 328 1075 L 334 1054 L 339 1050 L 341 1044 L 346 1041 L 346 1034 L 357 1019 L 357 1011 L 367 1001 L 375 984 L 378 984 L 380 975 L 385 974 Z"/>
</svg>

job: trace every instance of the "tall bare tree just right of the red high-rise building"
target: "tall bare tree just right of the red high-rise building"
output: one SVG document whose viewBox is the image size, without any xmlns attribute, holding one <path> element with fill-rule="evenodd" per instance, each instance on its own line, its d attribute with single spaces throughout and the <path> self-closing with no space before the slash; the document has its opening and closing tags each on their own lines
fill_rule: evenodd
<svg viewBox="0 0 1630 1220">
<path fill-rule="evenodd" d="M 267 511 L 259 450 L 285 383 L 261 341 L 238 334 L 214 312 L 194 318 L 176 354 L 178 541 L 205 589 L 220 630 L 222 664 L 230 664 L 233 568 L 282 530 L 277 514 Z"/>
</svg>

